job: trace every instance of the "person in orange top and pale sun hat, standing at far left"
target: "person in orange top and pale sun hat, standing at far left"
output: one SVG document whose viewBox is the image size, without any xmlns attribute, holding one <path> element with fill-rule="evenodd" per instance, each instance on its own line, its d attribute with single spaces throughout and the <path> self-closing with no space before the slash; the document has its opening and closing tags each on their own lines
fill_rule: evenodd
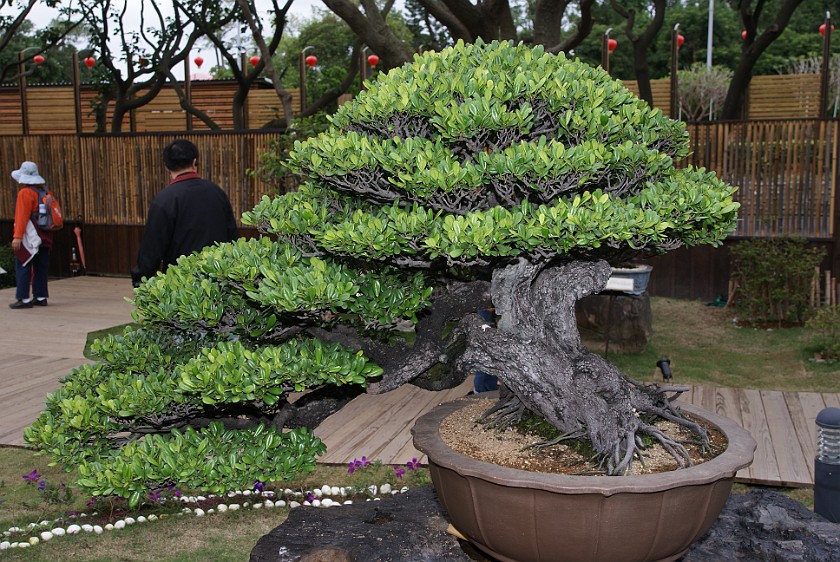
<svg viewBox="0 0 840 562">
<path fill-rule="evenodd" d="M 38 174 L 38 166 L 34 162 L 24 162 L 19 170 L 12 172 L 12 178 L 18 182 L 17 200 L 15 201 L 15 227 L 12 234 L 12 249 L 15 251 L 15 273 L 17 274 L 17 301 L 9 308 L 32 308 L 32 306 L 47 306 L 47 274 L 50 265 L 50 248 L 52 247 L 52 232 L 35 228 L 41 244 L 37 253 L 24 264 L 18 253 L 24 247 L 27 224 L 33 216 L 38 215 L 38 192 L 30 186 L 42 186 L 47 182 Z M 32 286 L 34 300 L 30 297 L 29 287 Z"/>
</svg>

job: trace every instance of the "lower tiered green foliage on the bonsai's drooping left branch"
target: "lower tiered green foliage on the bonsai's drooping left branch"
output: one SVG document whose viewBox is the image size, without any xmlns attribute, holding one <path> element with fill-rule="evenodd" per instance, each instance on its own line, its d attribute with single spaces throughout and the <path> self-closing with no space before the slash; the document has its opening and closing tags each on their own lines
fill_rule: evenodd
<svg viewBox="0 0 840 562">
<path fill-rule="evenodd" d="M 182 257 L 135 291 L 141 327 L 97 340 L 97 363 L 63 380 L 25 438 L 78 468 L 92 495 L 133 505 L 170 484 L 221 491 L 293 478 L 324 445 L 307 429 L 271 423 L 289 393 L 382 373 L 362 352 L 299 328 L 416 320 L 431 288 L 420 275 L 407 281 L 267 238 Z M 226 429 L 230 420 L 241 427 Z"/>
</svg>

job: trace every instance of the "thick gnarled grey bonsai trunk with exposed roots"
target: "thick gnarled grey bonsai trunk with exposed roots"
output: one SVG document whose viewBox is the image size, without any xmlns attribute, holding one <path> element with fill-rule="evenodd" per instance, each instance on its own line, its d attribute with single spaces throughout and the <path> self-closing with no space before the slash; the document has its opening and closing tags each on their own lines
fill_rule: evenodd
<svg viewBox="0 0 840 562">
<path fill-rule="evenodd" d="M 580 341 L 575 302 L 602 290 L 610 272 L 605 261 L 543 268 L 525 259 L 496 270 L 491 293 L 498 325 L 468 323 L 469 346 L 459 368 L 496 375 L 513 393 L 494 408 L 496 423 L 515 423 L 526 409 L 537 412 L 563 438 L 588 438 L 609 474 L 628 472 L 641 434 L 687 466 L 685 449 L 645 422 L 646 414 L 655 414 L 707 440 L 705 430 L 683 418 L 665 394 L 685 389 L 633 381 Z"/>
</svg>

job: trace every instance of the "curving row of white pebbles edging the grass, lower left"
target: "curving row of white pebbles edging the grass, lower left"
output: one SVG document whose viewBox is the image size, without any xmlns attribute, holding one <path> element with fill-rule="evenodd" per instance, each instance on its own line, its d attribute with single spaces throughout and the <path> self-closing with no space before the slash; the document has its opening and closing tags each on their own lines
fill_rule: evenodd
<svg viewBox="0 0 840 562">
<path fill-rule="evenodd" d="M 372 498 L 368 498 L 366 501 L 379 501 L 380 495 L 387 496 L 387 495 L 395 495 L 395 494 L 403 494 L 408 491 L 408 486 L 403 486 L 399 490 L 395 490 L 390 484 L 385 483 L 381 486 L 369 486 L 366 490 L 366 493 L 369 493 Z M 338 486 L 328 486 L 324 485 L 321 488 L 315 488 L 314 490 L 309 490 L 307 492 L 296 492 L 289 488 L 283 490 L 282 497 L 285 499 L 274 499 L 276 494 L 272 491 L 265 491 L 265 492 L 252 492 L 251 490 L 235 490 L 228 492 L 225 494 L 228 498 L 237 498 L 242 497 L 241 503 L 220 503 L 215 508 L 210 508 L 207 511 L 201 508 L 191 508 L 185 506 L 181 512 L 176 513 L 176 515 L 195 515 L 196 517 L 204 517 L 206 515 L 212 515 L 214 513 L 225 513 L 227 511 L 237 511 L 240 509 L 271 509 L 274 507 L 289 507 L 290 509 L 294 509 L 296 507 L 307 506 L 307 507 L 338 507 L 342 505 L 349 505 L 352 504 L 353 501 L 349 499 L 342 499 L 346 498 L 348 495 L 353 495 L 356 492 L 355 489 L 350 487 L 341 487 Z M 312 501 L 306 499 L 307 497 L 312 497 Z M 181 502 L 185 504 L 190 503 L 198 503 L 200 501 L 204 501 L 208 498 L 215 498 L 216 496 L 213 494 L 208 494 L 207 496 L 181 496 Z M 290 499 L 296 498 L 296 499 Z M 288 501 L 287 501 L 288 500 Z M 298 501 L 300 500 L 300 501 Z M 94 514 L 95 515 L 95 514 Z M 79 519 L 88 517 L 86 513 L 81 513 L 78 516 Z M 81 533 L 94 533 L 96 535 L 101 535 L 104 531 L 114 531 L 119 529 L 125 529 L 129 525 L 134 525 L 135 523 L 146 523 L 149 521 L 158 521 L 161 518 L 166 517 L 158 516 L 154 513 L 148 516 L 140 515 L 136 518 L 134 517 L 126 517 L 124 519 L 119 519 L 114 521 L 113 523 L 108 523 L 104 527 L 100 525 L 88 525 L 83 524 L 81 521 L 78 523 L 72 523 L 67 525 L 67 527 L 57 527 L 55 526 L 56 523 L 63 521 L 67 523 L 66 519 L 57 519 L 55 521 L 40 521 L 38 523 L 30 523 L 26 526 L 26 528 L 21 527 L 10 527 L 8 530 L 3 532 L 2 541 L 0 541 L 0 550 L 8 550 L 10 548 L 29 548 L 30 546 L 35 546 L 36 544 L 47 542 L 57 537 L 63 537 L 67 535 L 78 535 Z M 32 533 L 32 536 L 25 539 L 25 540 L 18 540 L 15 542 L 9 541 L 9 537 L 13 534 L 28 534 Z"/>
</svg>

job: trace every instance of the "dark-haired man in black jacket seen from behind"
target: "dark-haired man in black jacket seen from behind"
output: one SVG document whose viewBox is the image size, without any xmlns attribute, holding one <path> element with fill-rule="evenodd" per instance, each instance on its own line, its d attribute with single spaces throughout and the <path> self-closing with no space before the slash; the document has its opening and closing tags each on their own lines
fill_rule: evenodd
<svg viewBox="0 0 840 562">
<path fill-rule="evenodd" d="M 238 236 L 227 194 L 198 175 L 198 148 L 193 143 L 172 141 L 163 149 L 163 162 L 172 180 L 149 208 L 137 267 L 131 271 L 135 287 L 183 255 Z"/>
</svg>

